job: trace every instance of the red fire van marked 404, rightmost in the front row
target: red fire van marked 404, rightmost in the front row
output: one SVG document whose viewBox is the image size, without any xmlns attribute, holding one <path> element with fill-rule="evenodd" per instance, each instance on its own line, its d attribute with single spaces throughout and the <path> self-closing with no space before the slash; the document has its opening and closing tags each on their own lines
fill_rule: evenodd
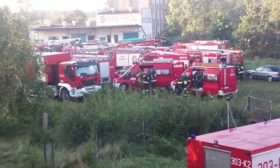
<svg viewBox="0 0 280 168">
<path fill-rule="evenodd" d="M 188 73 L 190 78 L 190 92 L 200 92 L 202 94 L 218 94 L 224 96 L 237 93 L 237 76 L 235 66 L 225 66 L 224 64 L 198 63 L 190 66 L 181 76 Z M 199 74 L 201 79 L 197 79 Z M 171 82 L 171 87 L 176 91 L 177 80 Z"/>
</svg>

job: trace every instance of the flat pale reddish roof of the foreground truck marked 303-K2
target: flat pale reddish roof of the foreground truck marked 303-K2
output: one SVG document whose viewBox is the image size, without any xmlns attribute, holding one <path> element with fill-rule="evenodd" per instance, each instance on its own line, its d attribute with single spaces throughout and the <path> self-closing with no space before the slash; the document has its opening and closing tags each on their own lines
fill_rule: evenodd
<svg viewBox="0 0 280 168">
<path fill-rule="evenodd" d="M 251 155 L 280 147 L 280 119 L 197 136 L 197 141 L 251 151 Z"/>
</svg>

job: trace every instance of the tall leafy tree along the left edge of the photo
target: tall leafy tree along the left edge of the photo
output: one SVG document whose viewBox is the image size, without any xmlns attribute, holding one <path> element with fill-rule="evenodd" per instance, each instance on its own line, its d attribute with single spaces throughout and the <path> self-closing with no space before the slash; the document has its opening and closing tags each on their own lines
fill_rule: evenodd
<svg viewBox="0 0 280 168">
<path fill-rule="evenodd" d="M 20 13 L 11 13 L 8 7 L 0 7 L 0 116 L 4 118 L 15 118 L 25 112 L 22 111 L 27 102 L 25 85 L 40 76 L 38 57 L 34 56 L 29 41 L 28 23 L 28 11 L 23 8 Z"/>
</svg>

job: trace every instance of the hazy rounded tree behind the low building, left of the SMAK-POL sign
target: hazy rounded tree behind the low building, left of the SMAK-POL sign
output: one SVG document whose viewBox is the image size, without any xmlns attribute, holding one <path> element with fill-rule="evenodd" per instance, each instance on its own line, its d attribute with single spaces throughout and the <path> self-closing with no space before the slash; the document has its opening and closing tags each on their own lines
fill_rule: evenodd
<svg viewBox="0 0 280 168">
<path fill-rule="evenodd" d="M 61 24 L 62 20 L 70 23 L 74 20 L 77 22 L 77 25 L 84 25 L 87 20 L 87 16 L 81 10 L 67 11 L 62 16 L 58 16 L 55 20 L 53 20 L 53 24 Z"/>
</svg>

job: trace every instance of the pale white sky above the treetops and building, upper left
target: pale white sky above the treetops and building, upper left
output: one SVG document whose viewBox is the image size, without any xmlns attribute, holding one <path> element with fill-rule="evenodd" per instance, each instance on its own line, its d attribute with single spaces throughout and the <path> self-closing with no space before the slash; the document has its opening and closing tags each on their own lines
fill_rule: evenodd
<svg viewBox="0 0 280 168">
<path fill-rule="evenodd" d="M 93 11 L 102 9 L 105 0 L 28 0 L 34 10 L 83 10 Z M 16 11 L 18 0 L 0 0 L 0 6 L 8 5 L 10 10 Z"/>
</svg>

